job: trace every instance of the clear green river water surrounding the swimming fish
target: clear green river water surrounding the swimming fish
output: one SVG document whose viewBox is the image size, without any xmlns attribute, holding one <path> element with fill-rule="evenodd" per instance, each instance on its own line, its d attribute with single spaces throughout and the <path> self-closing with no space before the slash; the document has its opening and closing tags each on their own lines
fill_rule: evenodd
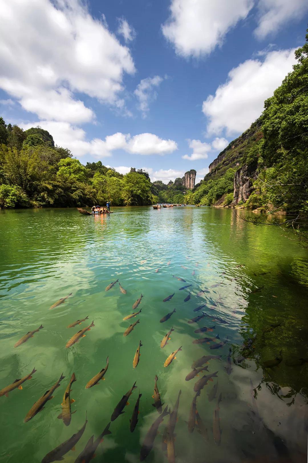
<svg viewBox="0 0 308 463">
<path fill-rule="evenodd" d="M 150 206 L 117 207 L 113 214 L 95 217 L 80 215 L 76 209 L 0 211 L 0 389 L 34 367 L 37 370 L 22 390 L 0 397 L 0 462 L 41 462 L 83 426 L 87 411 L 88 423 L 76 450 L 64 456 L 65 463 L 73 463 L 88 439 L 103 431 L 135 381 L 137 388 L 125 413 L 111 422 L 111 434 L 99 444 L 92 461 L 139 462 L 145 434 L 159 416 L 151 397 L 155 375 L 163 408 L 173 410 L 181 389 L 176 462 L 306 462 L 308 254 L 281 233 L 275 227 L 250 225 L 232 210 L 209 207 L 158 211 Z M 117 279 L 127 294 L 120 292 L 118 283 L 105 291 Z M 70 293 L 63 304 L 49 310 Z M 144 297 L 133 310 L 140 293 Z M 187 323 L 201 314 L 193 309 L 203 304 L 206 316 Z M 140 323 L 124 337 L 137 318 L 123 318 L 140 308 Z M 160 323 L 174 308 L 171 318 Z M 89 319 L 81 325 L 67 328 L 86 316 Z M 66 348 L 68 339 L 92 320 L 95 326 L 86 337 Z M 14 347 L 41 324 L 43 329 L 33 338 Z M 175 331 L 161 348 L 172 326 Z M 203 326 L 215 328 L 195 333 Z M 197 338 L 217 334 L 222 341 L 228 337 L 219 349 L 210 349 L 219 339 L 193 344 Z M 140 340 L 141 357 L 133 369 Z M 180 346 L 176 359 L 164 368 L 166 358 Z M 230 348 L 231 372 L 225 368 Z M 209 361 L 208 372 L 186 381 L 193 361 L 211 354 L 222 357 Z M 107 356 L 105 381 L 85 389 L 105 367 Z M 276 357 L 280 363 L 266 368 L 266 362 Z M 197 398 L 207 437 L 197 426 L 188 432 L 194 384 L 216 371 L 217 378 Z M 24 423 L 34 402 L 62 372 L 65 379 L 54 398 Z M 57 416 L 73 372 L 76 413 L 66 426 Z M 217 381 L 217 394 L 210 401 L 208 394 Z M 132 433 L 129 420 L 139 390 L 139 421 Z M 220 393 L 219 445 L 213 421 Z M 168 420 L 165 417 L 158 428 L 147 462 L 168 461 L 162 438 Z"/>
</svg>

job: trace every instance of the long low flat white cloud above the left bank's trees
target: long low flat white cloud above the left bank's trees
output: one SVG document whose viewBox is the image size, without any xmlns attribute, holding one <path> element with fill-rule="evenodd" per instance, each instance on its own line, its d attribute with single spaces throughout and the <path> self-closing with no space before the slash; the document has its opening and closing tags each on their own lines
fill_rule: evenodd
<svg viewBox="0 0 308 463">
<path fill-rule="evenodd" d="M 114 150 L 124 150 L 130 154 L 163 156 L 177 150 L 177 144 L 173 140 L 163 140 L 153 133 L 140 133 L 139 135 L 124 134 L 121 132 L 107 135 L 104 140 L 94 138 L 86 140 L 86 133 L 80 127 L 75 127 L 68 122 L 39 121 L 27 124 L 19 124 L 24 130 L 40 125 L 53 135 L 54 143 L 68 148 L 73 156 L 91 154 L 96 157 L 109 157 Z"/>
</svg>

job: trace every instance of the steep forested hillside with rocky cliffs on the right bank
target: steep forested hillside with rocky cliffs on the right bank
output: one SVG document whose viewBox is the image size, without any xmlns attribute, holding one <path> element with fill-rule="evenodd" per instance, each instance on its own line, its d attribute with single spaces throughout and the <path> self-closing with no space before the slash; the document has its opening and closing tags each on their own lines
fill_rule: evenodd
<svg viewBox="0 0 308 463">
<path fill-rule="evenodd" d="M 297 64 L 186 201 L 308 216 L 308 34 Z M 297 220 L 297 223 L 298 223 Z M 294 225 L 294 222 L 292 222 Z"/>
</svg>

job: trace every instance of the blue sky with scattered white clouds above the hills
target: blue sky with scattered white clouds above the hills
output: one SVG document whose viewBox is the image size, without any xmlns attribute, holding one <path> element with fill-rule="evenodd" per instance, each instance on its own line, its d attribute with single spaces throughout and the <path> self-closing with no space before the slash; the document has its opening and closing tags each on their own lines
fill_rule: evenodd
<svg viewBox="0 0 308 463">
<path fill-rule="evenodd" d="M 0 0 L 0 113 L 82 163 L 203 178 L 304 42 L 307 0 Z"/>
</svg>

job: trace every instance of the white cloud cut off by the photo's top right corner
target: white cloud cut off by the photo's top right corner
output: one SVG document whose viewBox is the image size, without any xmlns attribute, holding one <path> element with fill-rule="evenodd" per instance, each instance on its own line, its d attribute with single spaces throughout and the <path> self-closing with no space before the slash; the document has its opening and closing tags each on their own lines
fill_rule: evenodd
<svg viewBox="0 0 308 463">
<path fill-rule="evenodd" d="M 255 35 L 263 39 L 291 19 L 301 19 L 308 11 L 307 0 L 259 0 L 259 21 Z"/>
</svg>

